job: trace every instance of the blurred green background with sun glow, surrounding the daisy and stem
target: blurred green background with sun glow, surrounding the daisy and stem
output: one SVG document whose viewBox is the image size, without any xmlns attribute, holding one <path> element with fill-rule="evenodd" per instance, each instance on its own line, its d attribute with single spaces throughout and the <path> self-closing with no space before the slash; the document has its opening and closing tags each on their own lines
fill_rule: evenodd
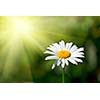
<svg viewBox="0 0 100 100">
<path fill-rule="evenodd" d="M 43 53 L 60 40 L 85 48 L 84 63 L 66 66 L 65 82 L 100 82 L 99 16 L 1 16 L 0 82 L 61 83 L 61 68 L 52 70 Z"/>
</svg>

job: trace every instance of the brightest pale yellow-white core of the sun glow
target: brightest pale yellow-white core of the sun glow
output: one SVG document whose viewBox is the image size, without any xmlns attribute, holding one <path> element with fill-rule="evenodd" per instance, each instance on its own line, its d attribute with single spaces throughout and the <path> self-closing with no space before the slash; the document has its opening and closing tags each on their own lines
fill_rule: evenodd
<svg viewBox="0 0 100 100">
<path fill-rule="evenodd" d="M 33 31 L 32 24 L 29 19 L 13 17 L 10 19 L 10 27 L 13 33 L 29 34 Z"/>
</svg>

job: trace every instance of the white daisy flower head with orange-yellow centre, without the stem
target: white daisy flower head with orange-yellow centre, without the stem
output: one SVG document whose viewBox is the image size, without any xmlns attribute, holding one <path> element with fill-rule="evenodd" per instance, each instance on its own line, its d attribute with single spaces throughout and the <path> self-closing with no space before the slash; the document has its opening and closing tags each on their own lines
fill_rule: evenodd
<svg viewBox="0 0 100 100">
<path fill-rule="evenodd" d="M 55 59 L 56 62 L 52 65 L 52 69 L 55 68 L 55 65 L 60 66 L 62 68 L 65 65 L 69 65 L 69 62 L 77 65 L 77 62 L 82 63 L 83 61 L 79 58 L 84 58 L 84 48 L 78 48 L 76 45 L 73 45 L 72 42 L 65 43 L 63 40 L 59 43 L 53 43 L 49 47 L 47 47 L 47 51 L 44 53 L 50 54 L 50 56 L 46 57 L 45 60 Z"/>
</svg>

